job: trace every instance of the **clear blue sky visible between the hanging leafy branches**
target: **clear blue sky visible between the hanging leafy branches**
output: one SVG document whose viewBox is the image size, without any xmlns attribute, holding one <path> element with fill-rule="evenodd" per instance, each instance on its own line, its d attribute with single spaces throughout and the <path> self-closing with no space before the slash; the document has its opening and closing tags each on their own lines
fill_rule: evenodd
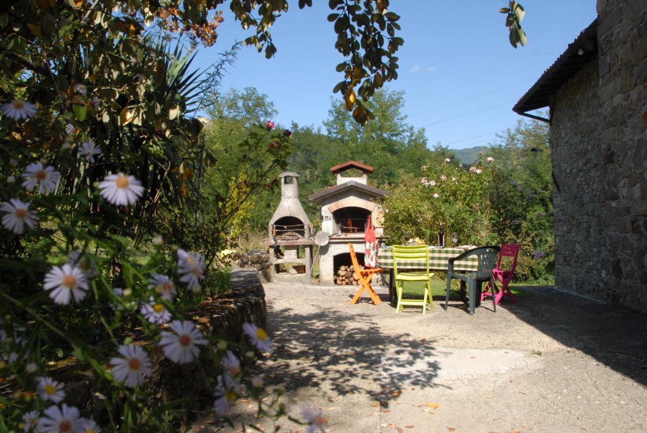
<svg viewBox="0 0 647 433">
<path fill-rule="evenodd" d="M 239 52 L 222 81 L 223 90 L 256 87 L 274 102 L 274 121 L 290 125 L 322 125 L 332 89 L 342 75 L 334 67 L 342 55 L 334 49 L 331 12 L 325 0 L 313 8 L 291 9 L 270 30 L 278 47 L 265 59 L 253 47 Z M 404 90 L 404 114 L 424 127 L 428 145 L 463 149 L 487 145 L 496 132 L 514 127 L 521 117 L 514 103 L 534 84 L 567 45 L 595 19 L 595 0 L 525 0 L 526 47 L 508 42 L 505 17 L 497 11 L 507 0 L 391 0 L 400 15 L 404 46 L 399 78 L 388 88 Z M 225 13 L 217 43 L 200 48 L 195 65 L 205 69 L 236 40 L 250 36 Z M 338 94 L 334 98 L 338 98 Z"/>
</svg>

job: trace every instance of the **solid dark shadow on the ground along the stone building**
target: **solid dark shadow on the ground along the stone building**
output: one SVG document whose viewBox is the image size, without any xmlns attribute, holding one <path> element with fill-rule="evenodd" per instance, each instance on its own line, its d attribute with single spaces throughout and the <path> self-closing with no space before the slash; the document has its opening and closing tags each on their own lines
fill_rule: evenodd
<svg viewBox="0 0 647 433">
<path fill-rule="evenodd" d="M 545 335 L 647 386 L 647 316 L 554 290 L 552 286 L 528 286 L 523 290 L 536 296 L 498 307 L 507 308 Z"/>
</svg>

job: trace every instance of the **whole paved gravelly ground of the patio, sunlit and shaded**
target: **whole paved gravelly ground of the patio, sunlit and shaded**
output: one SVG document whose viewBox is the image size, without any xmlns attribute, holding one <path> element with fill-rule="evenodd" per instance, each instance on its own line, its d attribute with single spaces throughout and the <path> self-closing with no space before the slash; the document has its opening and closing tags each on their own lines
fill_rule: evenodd
<svg viewBox="0 0 647 433">
<path fill-rule="evenodd" d="M 458 299 L 445 312 L 437 297 L 422 315 L 368 297 L 349 305 L 356 287 L 264 286 L 275 350 L 256 368 L 285 387 L 295 415 L 322 408 L 326 431 L 647 431 L 644 315 L 550 287 L 496 313 L 484 301 L 476 315 Z M 237 414 L 273 431 L 250 405 Z M 243 430 L 209 414 L 192 428 L 215 431 Z"/>
</svg>

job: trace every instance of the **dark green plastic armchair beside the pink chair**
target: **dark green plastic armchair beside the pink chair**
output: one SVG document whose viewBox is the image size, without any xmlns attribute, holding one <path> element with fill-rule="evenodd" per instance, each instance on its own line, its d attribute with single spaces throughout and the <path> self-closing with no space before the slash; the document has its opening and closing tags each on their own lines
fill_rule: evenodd
<svg viewBox="0 0 647 433">
<path fill-rule="evenodd" d="M 476 306 L 476 284 L 489 282 L 492 284 L 490 287 L 494 287 L 494 279 L 492 277 L 492 271 L 494 270 L 494 265 L 496 264 L 496 256 L 499 254 L 501 248 L 499 246 L 485 246 L 470 249 L 465 251 L 465 253 L 452 257 L 447 261 L 447 290 L 445 293 L 445 311 L 447 311 L 449 305 L 449 289 L 450 284 L 452 284 L 452 278 L 463 280 L 467 283 L 468 296 L 470 303 L 470 314 L 474 314 L 474 308 Z M 466 257 L 471 257 L 476 255 L 479 258 L 479 266 L 476 271 L 468 271 L 455 273 L 454 272 L 454 262 L 456 260 L 465 259 Z M 496 304 L 494 305 L 494 312 L 496 312 Z"/>
</svg>

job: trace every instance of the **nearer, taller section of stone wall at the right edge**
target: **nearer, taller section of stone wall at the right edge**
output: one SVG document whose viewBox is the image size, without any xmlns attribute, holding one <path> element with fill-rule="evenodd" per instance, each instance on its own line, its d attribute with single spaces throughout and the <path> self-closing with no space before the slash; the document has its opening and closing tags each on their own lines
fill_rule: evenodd
<svg viewBox="0 0 647 433">
<path fill-rule="evenodd" d="M 598 0 L 607 299 L 647 312 L 647 3 Z"/>
</svg>

